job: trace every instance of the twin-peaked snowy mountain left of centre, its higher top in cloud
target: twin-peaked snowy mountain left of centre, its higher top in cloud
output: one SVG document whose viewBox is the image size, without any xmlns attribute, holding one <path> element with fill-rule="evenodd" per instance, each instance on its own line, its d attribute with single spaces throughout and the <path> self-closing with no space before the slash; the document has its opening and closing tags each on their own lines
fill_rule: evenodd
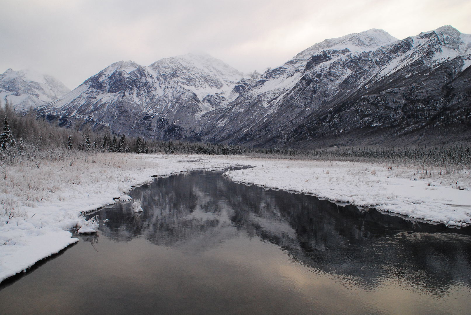
<svg viewBox="0 0 471 315">
<path fill-rule="evenodd" d="M 39 112 L 62 126 L 89 121 L 118 134 L 196 141 L 199 115 L 226 105 L 242 75 L 210 55 L 118 62 Z"/>
</svg>

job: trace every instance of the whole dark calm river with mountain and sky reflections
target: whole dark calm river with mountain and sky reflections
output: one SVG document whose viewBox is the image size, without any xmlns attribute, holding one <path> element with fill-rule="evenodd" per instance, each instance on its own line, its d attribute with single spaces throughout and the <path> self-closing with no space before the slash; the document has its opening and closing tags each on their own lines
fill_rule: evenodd
<svg viewBox="0 0 471 315">
<path fill-rule="evenodd" d="M 193 172 L 2 283 L 0 314 L 471 314 L 471 232 Z M 109 220 L 103 223 L 103 220 Z"/>
</svg>

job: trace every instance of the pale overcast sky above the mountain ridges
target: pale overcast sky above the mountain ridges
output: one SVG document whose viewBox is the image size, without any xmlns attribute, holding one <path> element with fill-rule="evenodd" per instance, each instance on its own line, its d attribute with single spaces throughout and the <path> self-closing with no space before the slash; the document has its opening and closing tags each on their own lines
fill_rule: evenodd
<svg viewBox="0 0 471 315">
<path fill-rule="evenodd" d="M 0 73 L 32 69 L 73 89 L 120 60 L 207 52 L 244 72 L 371 28 L 398 39 L 452 25 L 471 0 L 0 0 Z"/>
</svg>

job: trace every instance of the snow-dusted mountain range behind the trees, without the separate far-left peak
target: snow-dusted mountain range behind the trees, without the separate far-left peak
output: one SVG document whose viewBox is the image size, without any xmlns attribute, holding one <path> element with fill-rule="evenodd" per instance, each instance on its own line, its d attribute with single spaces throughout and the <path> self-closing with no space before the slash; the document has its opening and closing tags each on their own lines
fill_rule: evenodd
<svg viewBox="0 0 471 315">
<path fill-rule="evenodd" d="M 471 142 L 470 65 L 471 35 L 451 26 L 402 40 L 371 29 L 326 39 L 262 74 L 210 55 L 118 62 L 37 110 L 60 126 L 87 121 L 159 140 Z"/>
</svg>

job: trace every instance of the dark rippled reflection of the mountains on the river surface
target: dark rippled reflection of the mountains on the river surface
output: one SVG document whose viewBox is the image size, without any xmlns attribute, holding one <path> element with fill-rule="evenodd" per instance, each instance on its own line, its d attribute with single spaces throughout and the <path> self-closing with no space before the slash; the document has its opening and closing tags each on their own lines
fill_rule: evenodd
<svg viewBox="0 0 471 315">
<path fill-rule="evenodd" d="M 365 286 L 394 276 L 437 294 L 455 282 L 471 287 L 471 238 L 460 235 L 469 234 L 469 228 L 413 222 L 309 195 L 246 186 L 212 172 L 159 179 L 130 195 L 142 201 L 143 213 L 133 213 L 132 202 L 98 213 L 110 220 L 105 229 L 115 240 L 144 236 L 152 244 L 191 244 L 199 251 L 232 237 L 234 232 L 224 228 L 235 225 L 312 268 L 358 276 Z"/>
</svg>

